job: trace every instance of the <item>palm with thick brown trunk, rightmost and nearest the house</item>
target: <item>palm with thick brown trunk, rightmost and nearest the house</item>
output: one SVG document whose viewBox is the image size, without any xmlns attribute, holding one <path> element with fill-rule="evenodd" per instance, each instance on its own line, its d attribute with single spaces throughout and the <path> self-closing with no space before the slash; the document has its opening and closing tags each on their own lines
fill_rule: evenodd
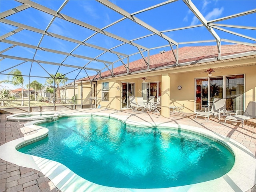
<svg viewBox="0 0 256 192">
<path fill-rule="evenodd" d="M 57 89 L 56 89 L 56 103 L 60 103 L 60 84 L 65 84 L 68 80 L 67 77 L 65 77 L 65 75 L 63 75 L 62 73 L 56 73 L 56 75 L 54 76 L 54 74 L 51 74 L 52 78 L 48 78 L 46 80 L 46 83 L 48 84 L 53 84 L 53 80 L 55 82 L 55 84 L 57 85 Z"/>
</svg>

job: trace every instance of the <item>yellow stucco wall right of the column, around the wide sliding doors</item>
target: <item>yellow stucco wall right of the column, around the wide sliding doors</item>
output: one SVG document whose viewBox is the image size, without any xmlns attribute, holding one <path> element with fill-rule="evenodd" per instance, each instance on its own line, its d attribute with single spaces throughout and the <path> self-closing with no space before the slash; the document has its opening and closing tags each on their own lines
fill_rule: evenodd
<svg viewBox="0 0 256 192">
<path fill-rule="evenodd" d="M 256 90 L 256 66 L 243 66 L 237 68 L 221 69 L 215 72 L 212 77 L 228 76 L 235 74 L 245 74 L 245 108 L 248 102 L 255 101 Z M 186 72 L 180 74 L 170 74 L 170 105 L 182 106 L 184 104 L 184 112 L 195 112 L 195 79 L 208 78 L 206 73 Z M 182 86 L 178 90 L 178 85 Z"/>
</svg>

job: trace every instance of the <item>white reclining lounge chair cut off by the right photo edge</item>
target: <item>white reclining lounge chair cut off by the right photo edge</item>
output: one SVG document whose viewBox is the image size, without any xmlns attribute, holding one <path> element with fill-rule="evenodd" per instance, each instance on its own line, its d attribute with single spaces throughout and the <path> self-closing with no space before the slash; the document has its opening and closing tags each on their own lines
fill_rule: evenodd
<svg viewBox="0 0 256 192">
<path fill-rule="evenodd" d="M 224 124 L 226 124 L 226 120 L 241 122 L 242 123 L 242 128 L 243 128 L 244 120 L 256 118 L 256 102 L 255 101 L 250 101 L 248 103 L 248 106 L 247 106 L 246 110 L 244 111 L 243 115 L 238 115 L 238 111 L 240 111 L 240 110 L 236 110 L 236 115 L 226 116 Z"/>
</svg>

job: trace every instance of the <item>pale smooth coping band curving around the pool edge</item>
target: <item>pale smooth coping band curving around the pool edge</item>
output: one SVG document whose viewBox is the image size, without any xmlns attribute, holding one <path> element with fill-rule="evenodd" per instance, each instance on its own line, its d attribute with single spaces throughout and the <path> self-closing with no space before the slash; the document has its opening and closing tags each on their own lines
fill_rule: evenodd
<svg viewBox="0 0 256 192">
<path fill-rule="evenodd" d="M 117 118 L 118 120 L 124 121 L 126 124 L 132 124 L 135 126 L 161 126 L 161 127 L 174 127 L 180 130 L 186 130 L 188 132 L 197 132 L 198 134 L 202 134 L 203 136 L 208 136 L 209 138 L 214 138 L 222 143 L 225 143 L 235 155 L 235 163 L 230 172 L 225 174 L 224 176 L 206 181 L 197 184 L 191 184 L 186 186 L 178 186 L 178 187 L 170 187 L 170 188 L 160 188 L 160 189 L 127 189 L 127 188 L 114 188 L 101 186 L 98 184 L 94 184 L 89 182 L 80 176 L 76 175 L 74 172 L 69 170 L 66 166 L 44 158 L 31 156 L 28 154 L 23 154 L 18 152 L 16 148 L 21 146 L 22 144 L 27 144 L 29 142 L 33 142 L 34 140 L 40 140 L 47 136 L 48 129 L 43 128 L 41 126 L 37 126 L 39 122 L 45 122 L 46 120 L 37 120 L 33 122 L 28 122 L 24 124 L 24 126 L 36 129 L 37 132 L 35 134 L 31 134 L 25 136 L 23 138 L 19 138 L 10 142 L 7 142 L 0 146 L 0 158 L 6 160 L 8 162 L 17 164 L 18 166 L 33 168 L 42 172 L 46 175 L 54 185 L 59 188 L 62 192 L 72 192 L 72 191 L 100 191 L 100 192 L 216 192 L 216 191 L 225 191 L 225 192 L 246 192 L 250 190 L 255 184 L 256 180 L 256 158 L 248 150 L 245 146 L 228 138 L 226 136 L 222 136 L 215 132 L 205 130 L 203 128 L 197 128 L 193 126 L 186 125 L 177 125 L 171 123 L 150 123 L 150 122 L 136 122 L 128 119 L 128 116 L 119 116 L 116 114 L 106 114 L 100 112 L 94 113 L 77 113 L 75 115 L 72 114 L 61 114 L 62 116 L 78 116 L 78 115 L 100 115 L 100 116 L 109 116 L 113 118 Z"/>
</svg>

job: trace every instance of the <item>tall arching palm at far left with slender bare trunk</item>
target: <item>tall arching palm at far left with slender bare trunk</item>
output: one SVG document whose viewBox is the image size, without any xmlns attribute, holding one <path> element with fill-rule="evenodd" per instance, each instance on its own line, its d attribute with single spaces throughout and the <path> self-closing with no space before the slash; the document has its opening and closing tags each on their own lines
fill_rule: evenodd
<svg viewBox="0 0 256 192">
<path fill-rule="evenodd" d="M 7 80 L 2 80 L 0 83 L 10 83 L 14 86 L 20 86 L 21 87 L 21 106 L 24 105 L 24 78 L 22 76 L 22 72 L 18 69 L 13 69 L 9 74 L 12 74 L 12 79 L 10 80 L 10 76 L 8 75 Z"/>
</svg>

